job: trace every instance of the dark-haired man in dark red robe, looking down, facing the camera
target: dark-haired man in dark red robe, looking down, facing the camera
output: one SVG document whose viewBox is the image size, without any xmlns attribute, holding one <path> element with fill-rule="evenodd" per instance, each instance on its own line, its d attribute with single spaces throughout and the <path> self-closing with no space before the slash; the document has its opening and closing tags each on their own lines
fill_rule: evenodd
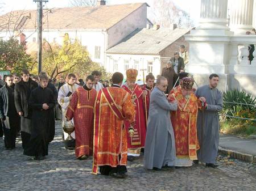
<svg viewBox="0 0 256 191">
<path fill-rule="evenodd" d="M 88 158 L 93 151 L 93 108 L 97 91 L 93 89 L 94 77 L 89 75 L 84 86 L 73 93 L 66 113 L 67 121 L 74 120 L 76 135 L 76 157 Z"/>
</svg>

